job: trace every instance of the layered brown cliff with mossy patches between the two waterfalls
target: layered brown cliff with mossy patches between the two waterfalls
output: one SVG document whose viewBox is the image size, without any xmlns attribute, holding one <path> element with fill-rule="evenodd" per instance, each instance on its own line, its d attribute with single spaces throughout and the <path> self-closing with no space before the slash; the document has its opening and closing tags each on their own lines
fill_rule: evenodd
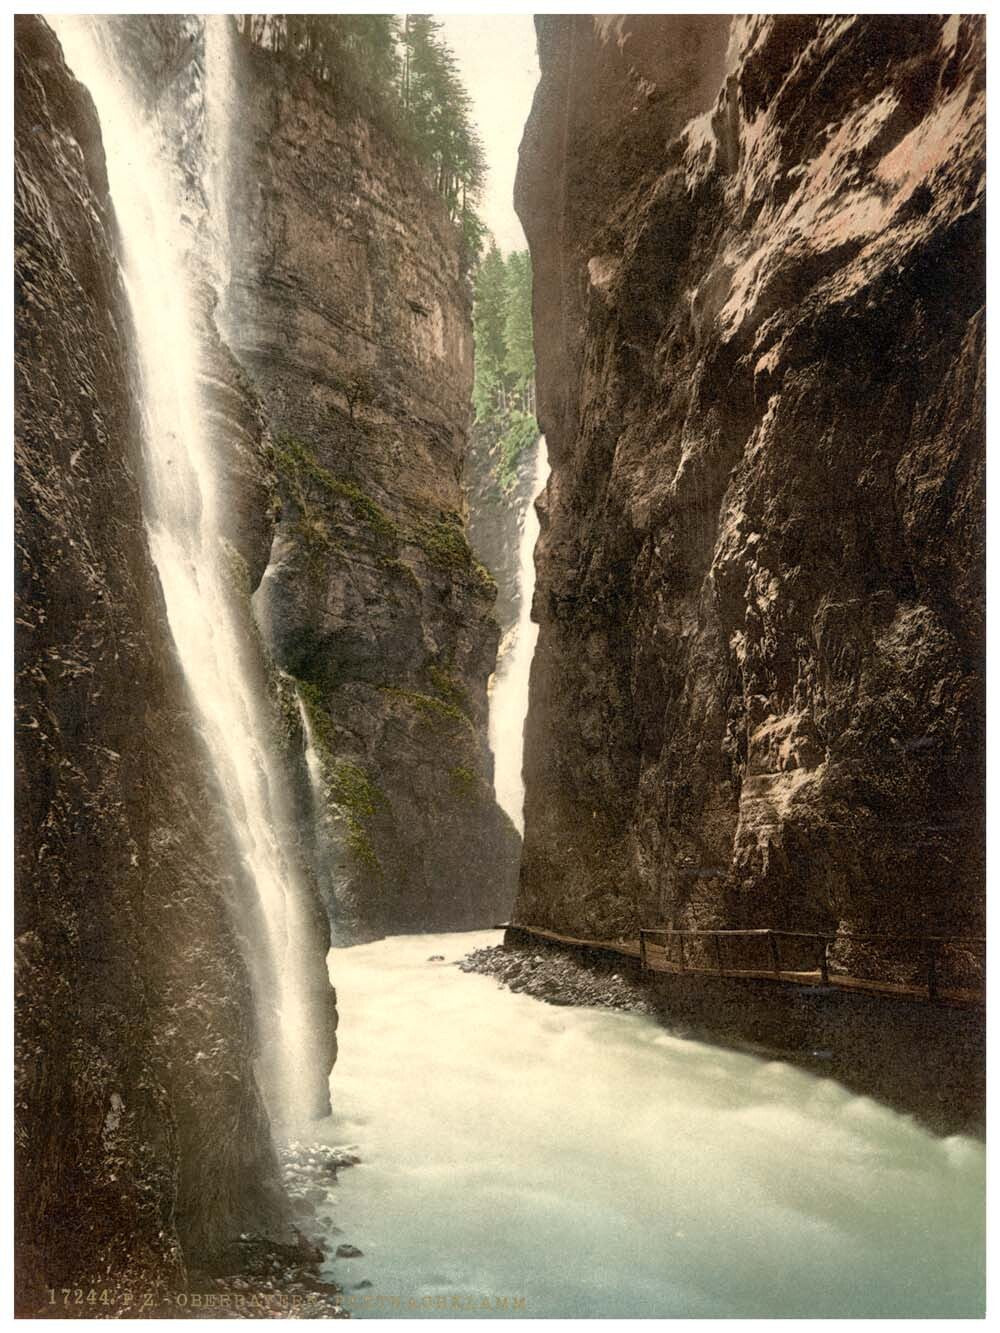
<svg viewBox="0 0 1000 1333">
<path fill-rule="evenodd" d="M 520 846 L 487 744 L 496 589 L 465 535 L 459 237 L 328 85 L 244 41 L 236 84 L 220 317 L 273 440 L 255 607 L 305 729 L 304 837 L 333 938 L 489 925 L 509 914 Z"/>
</svg>

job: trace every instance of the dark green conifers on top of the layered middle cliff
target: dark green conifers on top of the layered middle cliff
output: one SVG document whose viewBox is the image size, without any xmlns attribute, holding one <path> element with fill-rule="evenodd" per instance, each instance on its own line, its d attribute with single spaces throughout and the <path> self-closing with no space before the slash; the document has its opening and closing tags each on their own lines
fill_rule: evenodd
<svg viewBox="0 0 1000 1333">
<path fill-rule="evenodd" d="M 475 204 L 485 156 L 457 64 L 429 15 L 237 15 L 240 36 L 304 67 L 353 104 L 423 167 L 475 263 L 485 235 Z"/>
</svg>

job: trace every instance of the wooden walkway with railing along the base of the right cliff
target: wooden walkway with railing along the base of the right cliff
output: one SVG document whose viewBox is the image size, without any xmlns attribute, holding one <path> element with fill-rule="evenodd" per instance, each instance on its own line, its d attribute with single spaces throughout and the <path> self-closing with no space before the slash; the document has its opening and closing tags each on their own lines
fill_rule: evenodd
<svg viewBox="0 0 1000 1333">
<path fill-rule="evenodd" d="M 583 940 L 560 934 L 541 926 L 512 922 L 512 929 L 539 940 L 568 944 L 577 949 L 601 949 L 637 958 L 644 972 L 668 972 L 675 976 L 712 976 L 783 981 L 804 986 L 832 986 L 841 990 L 860 990 L 872 994 L 900 996 L 909 1000 L 939 1000 L 944 1004 L 983 1005 L 985 986 L 985 940 L 951 938 L 945 936 L 879 936 L 879 934 L 816 934 L 803 930 L 673 930 L 669 928 L 643 929 L 637 940 Z M 888 977 L 856 977 L 839 970 L 831 956 L 835 942 L 857 948 L 908 945 L 909 957 L 897 960 L 897 970 L 907 972 L 905 980 Z M 743 965 L 733 958 L 735 948 L 744 953 Z M 749 946 L 749 949 L 748 949 Z M 757 958 L 748 957 L 757 953 Z M 957 965 L 955 954 L 964 961 Z M 761 958 L 760 954 L 764 954 Z M 913 954 L 917 954 L 915 958 Z M 972 965 L 969 966 L 969 964 Z M 747 965 L 751 964 L 751 965 Z M 956 976 L 956 972 L 975 976 Z M 969 982 L 973 984 L 959 984 Z"/>
</svg>

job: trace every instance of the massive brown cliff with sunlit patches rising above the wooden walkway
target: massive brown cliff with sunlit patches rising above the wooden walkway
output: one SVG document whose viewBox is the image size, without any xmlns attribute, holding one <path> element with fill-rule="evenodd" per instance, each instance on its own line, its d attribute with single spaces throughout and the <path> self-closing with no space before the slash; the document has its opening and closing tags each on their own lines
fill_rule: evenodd
<svg viewBox="0 0 1000 1333">
<path fill-rule="evenodd" d="M 983 23 L 539 37 L 516 917 L 980 933 Z"/>
</svg>

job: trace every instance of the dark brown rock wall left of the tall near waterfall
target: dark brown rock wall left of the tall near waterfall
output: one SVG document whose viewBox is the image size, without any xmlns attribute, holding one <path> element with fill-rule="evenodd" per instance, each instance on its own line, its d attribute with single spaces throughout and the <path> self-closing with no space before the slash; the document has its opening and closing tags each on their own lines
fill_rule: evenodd
<svg viewBox="0 0 1000 1333">
<path fill-rule="evenodd" d="M 284 1194 L 245 897 L 143 529 L 100 127 L 16 20 L 17 1306 L 183 1284 Z"/>
</svg>

